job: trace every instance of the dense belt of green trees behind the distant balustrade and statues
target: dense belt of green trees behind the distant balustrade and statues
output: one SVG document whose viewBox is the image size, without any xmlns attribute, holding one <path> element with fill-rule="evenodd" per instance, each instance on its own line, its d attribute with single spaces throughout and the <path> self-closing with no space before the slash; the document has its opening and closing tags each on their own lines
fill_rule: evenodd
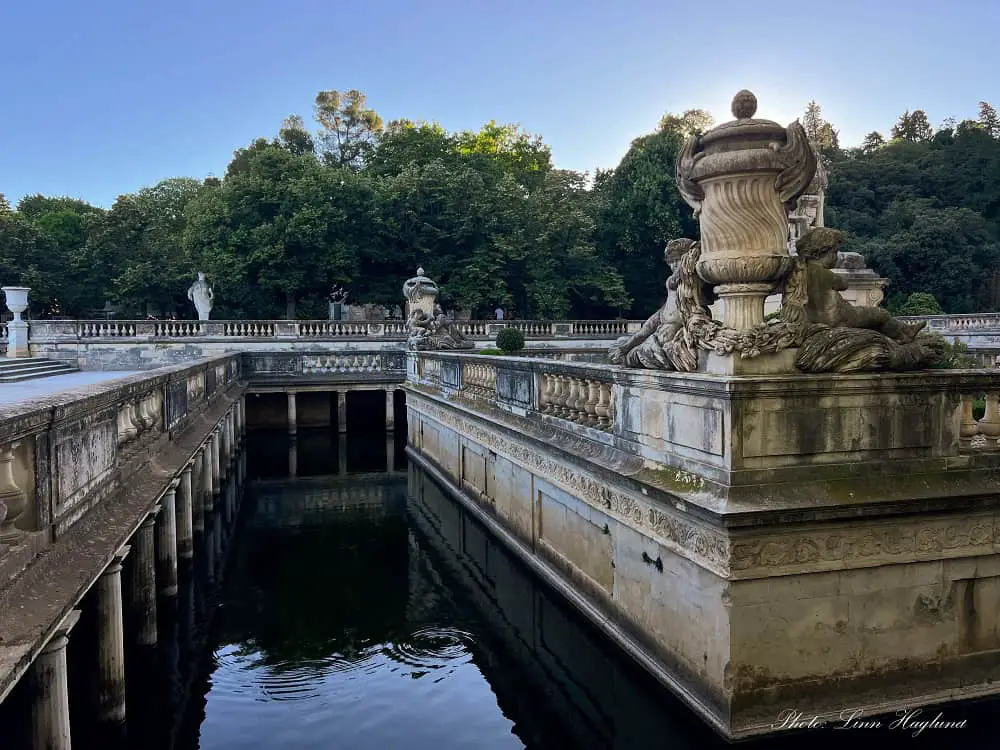
<svg viewBox="0 0 1000 750">
<path fill-rule="evenodd" d="M 358 91 L 235 152 L 223 178 L 164 180 L 109 210 L 70 198 L 0 196 L 0 278 L 32 287 L 32 313 L 191 317 L 198 270 L 216 317 L 325 317 L 334 285 L 396 305 L 423 266 L 441 303 L 479 317 L 645 317 L 663 299 L 663 246 L 697 237 L 674 183 L 683 139 L 706 112 L 666 114 L 612 170 L 556 169 L 518 126 L 451 133 L 384 124 Z M 826 223 L 890 279 L 894 312 L 1000 309 L 1000 118 L 935 132 L 921 110 L 891 137 L 843 149 L 810 102 L 803 118 L 830 173 Z"/>
</svg>

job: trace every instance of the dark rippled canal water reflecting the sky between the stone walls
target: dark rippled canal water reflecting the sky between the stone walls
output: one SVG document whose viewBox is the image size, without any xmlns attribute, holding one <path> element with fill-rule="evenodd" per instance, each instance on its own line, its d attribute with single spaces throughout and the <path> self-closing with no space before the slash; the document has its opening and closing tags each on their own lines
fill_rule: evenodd
<svg viewBox="0 0 1000 750">
<path fill-rule="evenodd" d="M 255 433 L 247 450 L 224 562 L 200 554 L 155 652 L 129 652 L 128 725 L 98 733 L 76 709 L 74 748 L 726 746 L 402 445 L 307 431 Z M 998 706 L 946 709 L 964 729 L 914 736 L 888 717 L 743 746 L 993 748 Z"/>
</svg>

